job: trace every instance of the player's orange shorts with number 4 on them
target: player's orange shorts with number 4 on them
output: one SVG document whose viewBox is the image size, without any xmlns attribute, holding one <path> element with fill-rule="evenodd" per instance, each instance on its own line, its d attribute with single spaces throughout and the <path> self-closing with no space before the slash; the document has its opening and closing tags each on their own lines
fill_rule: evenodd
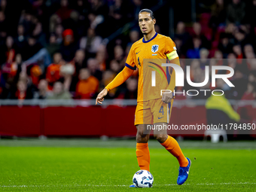
<svg viewBox="0 0 256 192">
<path fill-rule="evenodd" d="M 168 104 L 162 98 L 137 102 L 134 124 L 169 123 L 173 100 Z"/>
</svg>

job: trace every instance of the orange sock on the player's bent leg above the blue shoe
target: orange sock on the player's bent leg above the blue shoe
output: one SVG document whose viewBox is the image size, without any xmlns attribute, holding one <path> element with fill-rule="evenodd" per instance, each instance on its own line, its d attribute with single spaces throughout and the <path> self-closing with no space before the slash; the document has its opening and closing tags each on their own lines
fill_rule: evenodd
<svg viewBox="0 0 256 192">
<path fill-rule="evenodd" d="M 188 165 L 186 157 L 184 157 L 184 154 L 182 153 L 181 148 L 178 145 L 178 142 L 174 138 L 168 136 L 166 141 L 161 143 L 161 145 L 163 145 L 163 147 L 165 147 L 170 154 L 177 158 L 179 166 Z"/>
</svg>

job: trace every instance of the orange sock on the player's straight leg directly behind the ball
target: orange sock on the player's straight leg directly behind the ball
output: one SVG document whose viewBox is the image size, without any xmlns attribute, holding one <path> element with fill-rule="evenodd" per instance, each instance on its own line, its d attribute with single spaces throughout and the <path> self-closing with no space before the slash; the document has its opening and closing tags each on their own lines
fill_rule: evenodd
<svg viewBox="0 0 256 192">
<path fill-rule="evenodd" d="M 149 171 L 150 155 L 148 150 L 148 143 L 137 143 L 136 157 L 140 169 Z"/>
</svg>

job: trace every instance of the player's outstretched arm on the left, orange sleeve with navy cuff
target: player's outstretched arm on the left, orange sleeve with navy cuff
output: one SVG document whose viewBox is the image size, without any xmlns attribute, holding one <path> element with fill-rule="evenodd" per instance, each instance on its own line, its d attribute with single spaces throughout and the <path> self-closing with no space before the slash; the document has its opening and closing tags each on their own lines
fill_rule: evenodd
<svg viewBox="0 0 256 192">
<path fill-rule="evenodd" d="M 99 95 L 96 98 L 96 105 L 97 103 L 102 104 L 102 101 L 104 100 L 104 96 L 108 94 L 109 90 L 112 90 L 115 87 L 118 87 L 120 84 L 123 84 L 124 81 L 126 81 L 128 78 L 130 78 L 131 75 L 133 75 L 133 71 L 136 69 L 134 58 L 136 57 L 134 56 L 134 51 L 132 46 L 129 52 L 129 55 L 127 56 L 126 65 L 123 68 L 123 71 L 118 73 L 117 76 L 114 78 L 114 80 L 111 81 L 104 88 L 104 90 L 102 90 L 99 93 Z"/>
</svg>

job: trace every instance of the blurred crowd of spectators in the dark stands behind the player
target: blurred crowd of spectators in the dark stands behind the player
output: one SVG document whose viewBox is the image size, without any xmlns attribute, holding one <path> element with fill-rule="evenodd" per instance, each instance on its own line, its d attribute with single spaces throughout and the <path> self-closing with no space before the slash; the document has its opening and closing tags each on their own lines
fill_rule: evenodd
<svg viewBox="0 0 256 192">
<path fill-rule="evenodd" d="M 131 45 L 142 34 L 134 26 L 108 44 L 104 39 L 157 2 L 0 0 L 0 99 L 95 98 L 123 69 Z M 256 0 L 209 2 L 202 5 L 207 8 L 197 14 L 195 23 L 174 16 L 172 39 L 179 57 L 190 59 L 181 60 L 181 66 L 185 70 L 190 65 L 193 82 L 203 82 L 205 66 L 230 66 L 235 87 L 218 80 L 217 88 L 225 90 L 228 99 L 255 99 Z M 169 35 L 161 32 L 169 24 L 169 14 L 158 16 L 156 31 Z M 135 71 L 107 98 L 136 99 L 137 78 Z M 203 88 L 216 89 L 211 82 Z"/>
</svg>

